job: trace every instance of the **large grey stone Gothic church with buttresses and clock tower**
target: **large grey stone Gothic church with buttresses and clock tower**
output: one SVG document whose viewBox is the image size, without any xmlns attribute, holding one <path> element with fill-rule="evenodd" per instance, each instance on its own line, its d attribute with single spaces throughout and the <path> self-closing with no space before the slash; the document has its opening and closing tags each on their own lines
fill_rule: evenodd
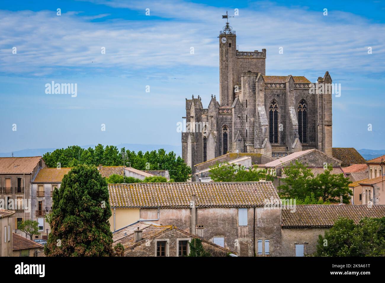
<svg viewBox="0 0 385 283">
<path fill-rule="evenodd" d="M 219 33 L 219 102 L 186 98 L 182 158 L 188 166 L 228 152 L 332 151 L 332 80 L 266 75 L 266 49 L 239 51 L 229 25 Z"/>
</svg>

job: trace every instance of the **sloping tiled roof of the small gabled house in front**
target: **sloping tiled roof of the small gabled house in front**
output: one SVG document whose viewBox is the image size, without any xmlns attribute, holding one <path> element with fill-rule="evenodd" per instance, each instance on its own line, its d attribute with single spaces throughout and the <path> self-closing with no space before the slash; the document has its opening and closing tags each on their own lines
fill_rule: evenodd
<svg viewBox="0 0 385 283">
<path fill-rule="evenodd" d="M 139 227 L 140 230 L 142 230 L 142 240 L 135 242 L 135 230 Z M 118 233 L 113 233 L 112 239 L 114 241 L 113 245 L 121 243 L 124 246 L 124 249 L 131 249 L 136 246 L 139 246 L 140 244 L 146 243 L 147 239 L 153 239 L 156 236 L 159 236 L 167 231 L 170 231 L 172 229 L 178 230 L 180 233 L 185 234 L 188 238 L 199 238 L 202 240 L 202 242 L 206 244 L 210 244 L 211 246 L 214 246 L 216 248 L 219 248 L 223 250 L 226 253 L 232 253 L 231 250 L 228 250 L 226 248 L 223 248 L 221 246 L 218 246 L 217 244 L 214 244 L 206 239 L 200 238 L 197 235 L 193 235 L 190 233 L 187 233 L 186 231 L 183 231 L 181 229 L 178 229 L 174 225 L 154 225 L 154 224 L 148 224 L 141 221 L 138 221 L 137 223 L 131 224 L 129 226 L 126 226 L 119 231 Z M 127 235 L 124 235 L 124 233 L 127 233 Z"/>
</svg>

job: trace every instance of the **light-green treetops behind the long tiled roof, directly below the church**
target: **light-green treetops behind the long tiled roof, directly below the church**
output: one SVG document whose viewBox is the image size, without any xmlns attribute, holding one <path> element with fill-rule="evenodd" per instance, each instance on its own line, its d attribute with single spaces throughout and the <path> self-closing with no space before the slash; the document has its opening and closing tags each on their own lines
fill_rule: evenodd
<svg viewBox="0 0 385 283">
<path fill-rule="evenodd" d="M 209 171 L 209 176 L 215 182 L 253 182 L 263 178 L 273 181 L 273 177 L 268 175 L 265 169 L 258 169 L 257 166 L 254 166 L 251 170 L 246 170 L 244 166 L 219 165 L 217 163 Z"/>
</svg>

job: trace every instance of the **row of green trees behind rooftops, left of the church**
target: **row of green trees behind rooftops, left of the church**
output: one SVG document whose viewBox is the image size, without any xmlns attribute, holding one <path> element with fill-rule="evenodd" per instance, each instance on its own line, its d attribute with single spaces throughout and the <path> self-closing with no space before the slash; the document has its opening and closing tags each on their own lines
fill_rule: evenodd
<svg viewBox="0 0 385 283">
<path fill-rule="evenodd" d="M 164 149 L 136 153 L 124 147 L 119 151 L 116 146 L 104 147 L 101 144 L 87 149 L 69 146 L 47 152 L 43 159 L 48 167 L 74 167 L 78 164 L 122 166 L 125 164 L 138 170 L 168 170 L 170 178 L 176 182 L 186 182 L 191 174 L 191 168 L 180 156 L 176 156 L 173 151 L 166 153 Z"/>
</svg>

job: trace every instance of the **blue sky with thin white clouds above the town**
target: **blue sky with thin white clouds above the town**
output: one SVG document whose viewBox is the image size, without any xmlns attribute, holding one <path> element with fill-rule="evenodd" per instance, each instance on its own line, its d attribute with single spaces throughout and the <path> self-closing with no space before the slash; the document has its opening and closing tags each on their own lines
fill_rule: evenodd
<svg viewBox="0 0 385 283">
<path fill-rule="evenodd" d="M 219 97 L 217 37 L 235 8 L 239 50 L 266 48 L 267 75 L 315 82 L 329 71 L 341 84 L 334 147 L 385 148 L 383 1 L 42 0 L 0 4 L 0 152 L 180 145 L 185 97 L 199 94 L 204 107 Z M 77 84 L 77 97 L 46 94 L 51 81 Z"/>
</svg>

